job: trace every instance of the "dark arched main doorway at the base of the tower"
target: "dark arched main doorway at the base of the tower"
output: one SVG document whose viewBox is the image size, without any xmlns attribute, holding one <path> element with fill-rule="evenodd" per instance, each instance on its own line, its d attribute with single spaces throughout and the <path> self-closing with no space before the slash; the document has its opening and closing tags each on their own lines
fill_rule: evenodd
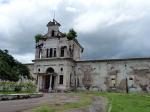
<svg viewBox="0 0 150 112">
<path fill-rule="evenodd" d="M 50 92 L 55 89 L 56 82 L 56 73 L 53 68 L 49 67 L 46 70 L 45 81 L 44 81 L 44 89 L 45 92 Z"/>
</svg>

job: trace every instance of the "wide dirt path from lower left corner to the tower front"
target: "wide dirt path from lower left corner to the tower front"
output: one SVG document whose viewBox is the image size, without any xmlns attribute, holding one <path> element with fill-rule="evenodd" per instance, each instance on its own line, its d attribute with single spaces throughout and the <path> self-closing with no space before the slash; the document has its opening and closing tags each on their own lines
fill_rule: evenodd
<svg viewBox="0 0 150 112">
<path fill-rule="evenodd" d="M 0 112 L 23 112 L 44 104 L 61 105 L 69 102 L 78 102 L 80 98 L 69 97 L 65 94 L 44 94 L 40 98 L 0 101 Z"/>
</svg>

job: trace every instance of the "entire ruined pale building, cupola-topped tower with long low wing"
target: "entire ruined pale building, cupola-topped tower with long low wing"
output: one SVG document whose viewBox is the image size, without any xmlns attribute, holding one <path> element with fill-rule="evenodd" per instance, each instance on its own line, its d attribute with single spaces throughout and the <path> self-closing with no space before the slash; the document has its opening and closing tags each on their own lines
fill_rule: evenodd
<svg viewBox="0 0 150 112">
<path fill-rule="evenodd" d="M 47 24 L 48 32 L 36 43 L 34 63 L 26 64 L 38 91 L 72 89 L 150 92 L 150 58 L 80 60 L 83 47 L 68 40 L 60 23 Z"/>
</svg>

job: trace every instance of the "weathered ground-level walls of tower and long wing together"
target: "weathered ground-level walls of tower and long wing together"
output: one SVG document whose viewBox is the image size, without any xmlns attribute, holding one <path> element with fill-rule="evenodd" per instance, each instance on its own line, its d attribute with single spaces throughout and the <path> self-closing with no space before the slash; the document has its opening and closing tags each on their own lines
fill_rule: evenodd
<svg viewBox="0 0 150 112">
<path fill-rule="evenodd" d="M 57 79 L 58 88 L 70 89 L 77 86 L 78 89 L 85 89 L 83 84 L 85 78 L 84 80 L 91 84 L 91 90 L 126 91 L 127 78 L 129 91 L 150 91 L 150 59 L 78 62 L 58 59 L 26 65 L 35 79 L 37 76 L 34 73 L 44 75 L 49 67 L 52 67 L 58 75 L 64 75 L 63 85 L 59 85 L 59 77 Z"/>
</svg>

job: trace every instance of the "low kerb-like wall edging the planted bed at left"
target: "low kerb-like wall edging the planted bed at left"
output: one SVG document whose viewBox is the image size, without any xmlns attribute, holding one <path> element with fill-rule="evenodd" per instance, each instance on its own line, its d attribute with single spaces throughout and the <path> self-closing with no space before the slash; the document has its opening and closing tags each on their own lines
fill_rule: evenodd
<svg viewBox="0 0 150 112">
<path fill-rule="evenodd" d="M 0 94 L 0 101 L 42 97 L 42 93 L 33 94 Z"/>
</svg>

